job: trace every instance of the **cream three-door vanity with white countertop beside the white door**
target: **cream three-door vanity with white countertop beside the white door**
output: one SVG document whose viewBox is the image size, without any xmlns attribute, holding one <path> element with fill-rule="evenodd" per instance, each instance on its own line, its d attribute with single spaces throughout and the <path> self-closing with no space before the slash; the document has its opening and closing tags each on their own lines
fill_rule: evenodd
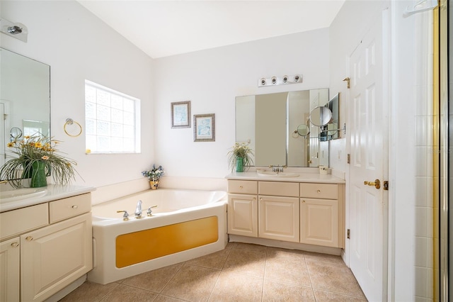
<svg viewBox="0 0 453 302">
<path fill-rule="evenodd" d="M 237 235 L 294 242 L 292 247 L 310 245 L 315 248 L 309 250 L 314 251 L 316 247 L 332 247 L 338 253 L 345 241 L 345 181 L 331 174 L 297 174 L 297 177 L 262 177 L 257 172 L 229 174 L 226 179 L 230 238 Z"/>
</svg>

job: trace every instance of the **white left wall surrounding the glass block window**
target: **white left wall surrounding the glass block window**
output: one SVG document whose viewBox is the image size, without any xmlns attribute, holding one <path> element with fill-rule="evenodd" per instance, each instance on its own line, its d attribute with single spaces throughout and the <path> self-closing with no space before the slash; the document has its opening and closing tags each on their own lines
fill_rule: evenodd
<svg viewBox="0 0 453 302">
<path fill-rule="evenodd" d="M 28 43 L 1 34 L 1 47 L 50 65 L 52 136 L 78 162 L 76 184 L 143 178 L 154 160 L 151 59 L 76 1 L 2 0 L 1 17 L 28 27 Z M 67 118 L 85 124 L 85 79 L 142 100 L 142 154 L 86 155 L 84 135 L 65 135 Z"/>
</svg>

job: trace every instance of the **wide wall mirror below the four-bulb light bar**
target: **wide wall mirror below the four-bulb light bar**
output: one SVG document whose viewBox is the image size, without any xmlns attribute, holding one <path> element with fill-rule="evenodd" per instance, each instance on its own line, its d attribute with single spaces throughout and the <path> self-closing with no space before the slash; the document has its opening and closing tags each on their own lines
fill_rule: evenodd
<svg viewBox="0 0 453 302">
<path fill-rule="evenodd" d="M 327 102 L 326 88 L 237 96 L 236 142 L 252 148 L 256 166 L 328 165 L 328 142 L 319 140 L 319 127 L 307 124 L 310 112 Z"/>
</svg>

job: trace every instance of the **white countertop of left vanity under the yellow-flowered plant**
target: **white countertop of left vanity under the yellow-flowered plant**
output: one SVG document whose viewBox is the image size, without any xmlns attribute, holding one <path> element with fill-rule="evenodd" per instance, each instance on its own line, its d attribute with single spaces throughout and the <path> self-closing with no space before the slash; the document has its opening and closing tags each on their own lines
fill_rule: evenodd
<svg viewBox="0 0 453 302">
<path fill-rule="evenodd" d="M 16 210 L 17 208 L 25 208 L 25 206 L 34 206 L 39 203 L 85 194 L 96 190 L 96 188 L 93 188 L 92 186 L 62 186 L 57 184 L 49 184 L 43 188 L 37 189 L 45 189 L 45 194 L 38 197 L 22 198 L 15 201 L 4 202 L 0 199 L 0 213 Z"/>
</svg>

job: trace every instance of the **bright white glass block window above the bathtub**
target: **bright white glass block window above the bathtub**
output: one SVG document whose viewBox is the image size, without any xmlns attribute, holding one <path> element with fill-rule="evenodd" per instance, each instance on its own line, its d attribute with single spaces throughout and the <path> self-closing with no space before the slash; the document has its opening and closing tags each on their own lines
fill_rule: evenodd
<svg viewBox="0 0 453 302">
<path fill-rule="evenodd" d="M 85 81 L 87 153 L 139 153 L 139 117 L 139 99 Z"/>
</svg>

